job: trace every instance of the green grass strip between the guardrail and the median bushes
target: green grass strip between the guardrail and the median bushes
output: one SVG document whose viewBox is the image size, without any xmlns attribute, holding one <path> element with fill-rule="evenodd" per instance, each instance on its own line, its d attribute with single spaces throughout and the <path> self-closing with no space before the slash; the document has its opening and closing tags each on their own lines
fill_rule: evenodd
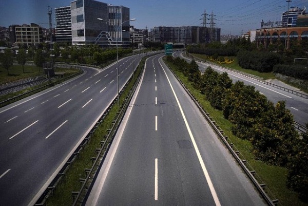
<svg viewBox="0 0 308 206">
<path fill-rule="evenodd" d="M 172 65 L 169 62 L 166 63 L 186 85 L 192 95 L 198 99 L 207 113 L 209 113 L 222 128 L 225 136 L 230 140 L 229 143 L 232 142 L 235 145 L 249 165 L 251 165 L 257 172 L 257 175 L 266 183 L 265 190 L 270 191 L 273 194 L 273 196 L 269 195 L 269 197 L 279 199 L 280 205 L 308 205 L 308 203 L 299 200 L 297 193 L 287 189 L 285 184 L 287 169 L 284 167 L 267 165 L 266 163 L 257 160 L 252 154 L 253 147 L 251 142 L 248 140 L 242 140 L 232 134 L 232 123 L 224 118 L 222 111 L 211 107 L 210 103 L 205 100 L 205 96 L 202 95 L 199 90 L 192 87 L 191 82 L 187 80 L 187 77 L 185 77 L 181 71 L 177 70 L 175 65 Z"/>
</svg>

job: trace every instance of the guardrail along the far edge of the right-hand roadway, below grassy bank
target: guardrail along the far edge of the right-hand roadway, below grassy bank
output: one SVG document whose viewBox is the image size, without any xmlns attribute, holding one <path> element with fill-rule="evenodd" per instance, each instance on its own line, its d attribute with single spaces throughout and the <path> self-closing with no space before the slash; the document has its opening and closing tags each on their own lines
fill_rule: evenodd
<svg viewBox="0 0 308 206">
<path fill-rule="evenodd" d="M 191 57 L 188 57 L 187 55 L 186 55 L 186 57 L 192 59 Z M 221 68 L 223 68 L 223 69 L 225 69 L 225 70 L 232 71 L 232 72 L 234 72 L 234 73 L 240 74 L 240 75 L 243 76 L 243 77 L 246 77 L 246 78 L 255 80 L 255 81 L 257 81 L 257 82 L 261 82 L 261 83 L 266 84 L 266 85 L 269 85 L 269 86 L 271 86 L 271 87 L 274 87 L 274 88 L 277 88 L 277 89 L 280 89 L 280 90 L 283 90 L 283 91 L 292 93 L 293 95 L 296 95 L 296 96 L 299 96 L 299 97 L 308 99 L 308 95 L 306 95 L 305 93 L 301 93 L 301 92 L 298 92 L 298 91 L 295 91 L 295 90 L 292 90 L 292 89 L 288 89 L 288 88 L 283 87 L 283 86 L 278 86 L 278 85 L 276 85 L 276 84 L 272 84 L 272 83 L 266 82 L 266 81 L 264 81 L 264 80 L 260 80 L 260 79 L 258 79 L 258 78 L 252 77 L 252 76 L 250 76 L 250 75 L 248 75 L 248 74 L 246 74 L 246 73 L 243 73 L 243 72 L 240 72 L 240 71 L 237 71 L 237 70 L 234 70 L 234 69 L 230 69 L 230 68 L 227 68 L 227 67 L 223 67 L 223 66 L 221 66 L 221 65 L 218 65 L 218 64 L 215 64 L 215 63 L 212 63 L 212 62 L 209 63 L 209 62 L 206 62 L 206 61 L 201 60 L 201 59 L 199 59 L 199 58 L 195 58 L 195 57 L 194 57 L 194 59 L 197 60 L 198 62 L 202 62 L 202 63 L 205 63 L 205 64 L 213 64 L 213 65 L 215 65 L 215 66 L 219 66 L 219 67 L 221 67 Z"/>
</svg>

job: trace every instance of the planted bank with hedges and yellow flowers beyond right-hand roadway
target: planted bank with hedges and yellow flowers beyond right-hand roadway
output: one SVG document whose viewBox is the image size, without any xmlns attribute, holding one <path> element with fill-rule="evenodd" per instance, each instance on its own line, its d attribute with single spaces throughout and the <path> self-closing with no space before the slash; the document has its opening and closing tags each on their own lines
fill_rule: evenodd
<svg viewBox="0 0 308 206">
<path fill-rule="evenodd" d="M 308 38 L 303 38 L 300 43 L 291 39 L 288 49 L 285 49 L 283 41 L 268 43 L 265 47 L 240 38 L 227 44 L 214 42 L 187 46 L 187 52 L 197 59 L 252 74 L 263 80 L 279 79 L 308 92 L 308 60 L 305 59 L 308 58 Z"/>
</svg>

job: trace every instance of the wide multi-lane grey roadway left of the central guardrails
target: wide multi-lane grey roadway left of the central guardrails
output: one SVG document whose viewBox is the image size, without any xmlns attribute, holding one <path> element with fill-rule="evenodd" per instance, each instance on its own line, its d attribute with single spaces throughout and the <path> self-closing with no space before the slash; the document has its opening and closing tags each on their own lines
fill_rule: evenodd
<svg viewBox="0 0 308 206">
<path fill-rule="evenodd" d="M 120 90 L 142 55 L 119 60 Z M 0 108 L 0 205 L 33 205 L 117 96 L 117 65 Z"/>
</svg>

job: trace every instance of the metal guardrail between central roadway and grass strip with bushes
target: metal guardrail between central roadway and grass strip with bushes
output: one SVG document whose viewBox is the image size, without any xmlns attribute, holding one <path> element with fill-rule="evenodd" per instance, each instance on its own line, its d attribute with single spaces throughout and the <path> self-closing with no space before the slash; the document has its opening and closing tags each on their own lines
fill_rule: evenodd
<svg viewBox="0 0 308 206">
<path fill-rule="evenodd" d="M 199 104 L 199 102 L 196 100 L 196 98 L 194 96 L 191 95 L 190 91 L 186 88 L 186 86 L 183 84 L 183 82 L 177 77 L 177 75 L 174 73 L 174 71 L 172 71 L 170 69 L 170 71 L 174 74 L 174 76 L 178 79 L 178 81 L 180 82 L 180 84 L 182 85 L 182 87 L 185 89 L 185 91 L 188 93 L 189 97 L 192 99 L 192 101 L 195 102 L 195 104 L 197 105 L 197 107 L 199 108 L 199 110 L 201 111 L 201 113 L 203 114 L 203 116 L 206 118 L 206 120 L 209 122 L 209 124 L 214 128 L 216 134 L 220 137 L 220 139 L 223 141 L 223 143 L 226 145 L 226 147 L 228 148 L 229 152 L 233 155 L 233 157 L 236 159 L 236 161 L 238 162 L 238 164 L 242 167 L 243 171 L 245 172 L 245 174 L 248 176 L 249 179 L 251 179 L 251 181 L 253 182 L 253 184 L 255 185 L 256 189 L 258 190 L 258 192 L 261 194 L 261 196 L 263 197 L 263 199 L 266 201 L 266 203 L 268 205 L 276 205 L 278 204 L 278 199 L 274 199 L 272 200 L 271 198 L 269 198 L 269 196 L 267 195 L 267 193 L 265 192 L 265 183 L 259 183 L 258 180 L 256 179 L 256 177 L 258 177 L 258 179 L 261 179 L 259 176 L 257 176 L 256 172 L 253 170 L 249 170 L 247 165 L 248 162 L 245 159 L 241 159 L 240 156 L 242 156 L 240 154 L 240 152 L 236 149 L 236 147 L 233 145 L 233 143 L 229 143 L 228 142 L 228 138 L 226 136 L 224 136 L 224 132 L 223 130 L 219 127 L 219 125 L 210 117 L 210 115 L 205 111 L 205 109 Z M 235 150 L 236 149 L 236 150 Z M 242 156 L 243 157 L 243 156 Z M 251 167 L 249 165 L 249 167 Z M 251 167 L 252 168 L 252 167 Z M 268 191 L 269 192 L 269 191 Z"/>
</svg>

